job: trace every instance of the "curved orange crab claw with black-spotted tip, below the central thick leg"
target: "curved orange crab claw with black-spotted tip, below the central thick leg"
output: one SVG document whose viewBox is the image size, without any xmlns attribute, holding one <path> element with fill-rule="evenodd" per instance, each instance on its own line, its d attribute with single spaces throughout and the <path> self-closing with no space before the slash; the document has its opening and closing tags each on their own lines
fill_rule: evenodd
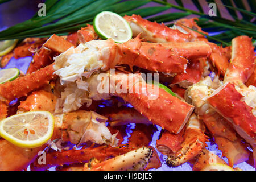
<svg viewBox="0 0 256 182">
<path fill-rule="evenodd" d="M 170 166 L 179 166 L 199 154 L 208 141 L 204 134 L 204 125 L 192 114 L 187 123 L 187 127 L 183 135 L 184 141 L 180 144 L 181 149 L 176 153 L 172 153 L 167 158 L 167 164 Z"/>
</svg>

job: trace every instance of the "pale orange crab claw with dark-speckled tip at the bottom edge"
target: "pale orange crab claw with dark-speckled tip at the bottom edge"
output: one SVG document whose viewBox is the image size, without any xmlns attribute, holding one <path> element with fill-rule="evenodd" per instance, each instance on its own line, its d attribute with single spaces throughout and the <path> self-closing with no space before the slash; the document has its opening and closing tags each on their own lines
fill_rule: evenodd
<svg viewBox="0 0 256 182">
<path fill-rule="evenodd" d="M 85 171 L 140 171 L 147 166 L 151 157 L 151 148 L 143 147 L 100 163 L 85 165 L 84 169 Z"/>
</svg>

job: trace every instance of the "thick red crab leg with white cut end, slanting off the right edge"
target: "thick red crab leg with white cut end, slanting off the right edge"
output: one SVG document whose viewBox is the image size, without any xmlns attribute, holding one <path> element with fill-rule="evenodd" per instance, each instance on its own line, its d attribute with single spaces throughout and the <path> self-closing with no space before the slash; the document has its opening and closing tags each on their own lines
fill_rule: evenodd
<svg viewBox="0 0 256 182">
<path fill-rule="evenodd" d="M 231 122 L 237 133 L 251 145 L 256 143 L 256 117 L 253 108 L 243 98 L 233 84 L 222 85 L 207 98 L 214 110 Z"/>
</svg>

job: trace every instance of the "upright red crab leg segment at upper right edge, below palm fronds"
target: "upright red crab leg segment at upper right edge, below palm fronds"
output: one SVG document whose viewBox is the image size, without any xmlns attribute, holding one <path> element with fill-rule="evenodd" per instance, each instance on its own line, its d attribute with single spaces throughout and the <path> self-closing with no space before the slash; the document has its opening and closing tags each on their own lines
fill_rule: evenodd
<svg viewBox="0 0 256 182">
<path fill-rule="evenodd" d="M 251 38 L 238 36 L 232 40 L 232 58 L 224 82 L 245 83 L 254 71 L 255 53 Z"/>
</svg>

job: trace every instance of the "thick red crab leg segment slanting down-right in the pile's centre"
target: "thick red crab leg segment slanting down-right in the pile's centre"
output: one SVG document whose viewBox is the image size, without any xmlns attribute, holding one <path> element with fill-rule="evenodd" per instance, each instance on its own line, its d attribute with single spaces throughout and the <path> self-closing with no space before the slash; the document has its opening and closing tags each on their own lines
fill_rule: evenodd
<svg viewBox="0 0 256 182">
<path fill-rule="evenodd" d="M 122 77 L 126 76 L 126 74 L 115 75 L 115 82 L 124 85 L 124 83 L 122 83 Z M 140 79 L 140 76 L 134 76 Z M 156 88 L 159 92 L 158 97 L 152 100 L 151 92 L 155 88 L 154 85 L 152 85 L 152 90 L 147 89 L 150 88 L 150 86 L 146 83 L 137 82 L 134 85 L 127 86 L 127 94 L 115 93 L 114 95 L 129 102 L 133 105 L 134 109 L 146 116 L 152 123 L 161 126 L 171 133 L 179 133 L 185 123 L 187 123 L 194 106 L 179 100 L 179 98 L 172 96 L 162 88 Z M 136 93 L 135 89 L 138 89 Z M 133 93 L 131 93 L 130 90 L 134 90 Z"/>
</svg>

